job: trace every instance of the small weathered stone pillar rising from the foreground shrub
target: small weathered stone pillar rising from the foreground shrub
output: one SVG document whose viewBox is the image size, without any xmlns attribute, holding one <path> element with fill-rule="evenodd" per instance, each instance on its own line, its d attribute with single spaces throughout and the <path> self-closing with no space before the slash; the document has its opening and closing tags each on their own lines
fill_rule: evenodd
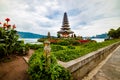
<svg viewBox="0 0 120 80">
<path fill-rule="evenodd" d="M 44 41 L 44 56 L 45 56 L 45 64 L 46 64 L 46 68 L 49 67 L 50 63 L 51 63 L 51 59 L 50 59 L 50 42 L 49 41 Z"/>
</svg>

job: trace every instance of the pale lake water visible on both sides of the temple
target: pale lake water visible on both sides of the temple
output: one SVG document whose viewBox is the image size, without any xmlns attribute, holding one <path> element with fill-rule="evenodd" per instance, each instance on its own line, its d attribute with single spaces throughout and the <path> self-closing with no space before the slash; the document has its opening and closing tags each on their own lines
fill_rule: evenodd
<svg viewBox="0 0 120 80">
<path fill-rule="evenodd" d="M 38 38 L 20 38 L 19 40 L 24 40 L 24 43 L 31 43 L 31 44 L 42 44 L 41 42 L 37 42 Z M 93 38 L 92 40 L 95 40 L 97 42 L 103 42 L 104 39 L 101 38 Z"/>
</svg>

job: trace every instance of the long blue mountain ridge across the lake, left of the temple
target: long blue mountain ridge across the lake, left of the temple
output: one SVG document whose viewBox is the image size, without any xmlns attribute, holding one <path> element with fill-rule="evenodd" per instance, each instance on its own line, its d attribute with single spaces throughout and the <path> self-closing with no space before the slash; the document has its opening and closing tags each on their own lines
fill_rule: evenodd
<svg viewBox="0 0 120 80">
<path fill-rule="evenodd" d="M 20 32 L 18 31 L 20 38 L 43 38 L 45 35 L 30 33 L 30 32 Z"/>
</svg>

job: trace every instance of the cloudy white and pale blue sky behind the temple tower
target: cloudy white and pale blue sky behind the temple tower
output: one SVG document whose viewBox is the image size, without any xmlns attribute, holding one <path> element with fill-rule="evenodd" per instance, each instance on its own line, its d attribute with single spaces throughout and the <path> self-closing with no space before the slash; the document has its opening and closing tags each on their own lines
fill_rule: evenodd
<svg viewBox="0 0 120 80">
<path fill-rule="evenodd" d="M 120 0 L 0 0 L 0 22 L 5 18 L 18 31 L 56 36 L 67 12 L 76 35 L 94 36 L 120 27 Z"/>
</svg>

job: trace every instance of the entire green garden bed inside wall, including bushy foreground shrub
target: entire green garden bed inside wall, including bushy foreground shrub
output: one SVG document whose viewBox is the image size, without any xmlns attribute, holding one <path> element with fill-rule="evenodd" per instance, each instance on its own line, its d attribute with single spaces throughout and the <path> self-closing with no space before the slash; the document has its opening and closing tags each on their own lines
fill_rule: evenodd
<svg viewBox="0 0 120 80">
<path fill-rule="evenodd" d="M 68 62 L 70 60 L 73 61 L 73 59 L 86 55 L 92 51 L 98 50 L 118 41 L 119 40 L 109 40 L 101 43 L 88 42 L 79 44 L 77 46 L 51 44 L 51 55 L 48 56 L 45 56 L 43 45 L 37 45 L 40 46 L 39 49 L 35 51 L 28 62 L 28 74 L 30 75 L 30 79 L 36 80 L 71 80 L 73 78 L 73 76 L 71 76 L 71 73 L 68 71 L 68 69 L 59 65 L 57 63 L 57 60 L 63 62 Z M 32 48 L 34 45 L 28 46 Z"/>
</svg>

